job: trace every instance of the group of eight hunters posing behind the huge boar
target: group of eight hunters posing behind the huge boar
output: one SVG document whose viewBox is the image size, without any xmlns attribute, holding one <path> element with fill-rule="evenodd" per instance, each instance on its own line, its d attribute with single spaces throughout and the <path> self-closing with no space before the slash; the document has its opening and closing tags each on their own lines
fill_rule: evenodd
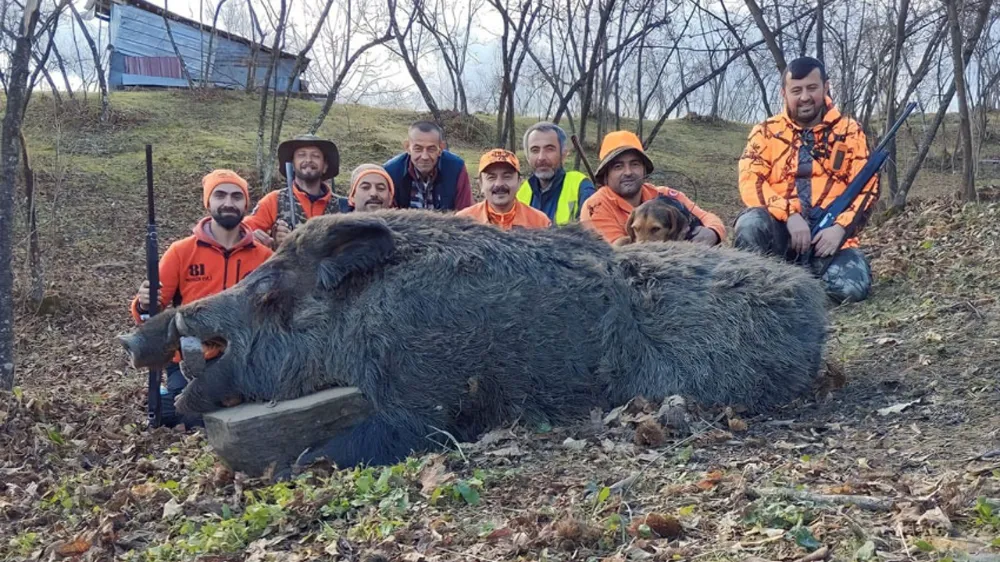
<svg viewBox="0 0 1000 562">
<path fill-rule="evenodd" d="M 868 157 L 864 132 L 840 113 L 829 91 L 820 61 L 803 57 L 788 64 L 782 76 L 784 111 L 753 128 L 739 160 L 739 191 L 747 208 L 735 221 L 733 245 L 808 262 L 831 299 L 855 302 L 867 298 L 872 283 L 857 235 L 878 197 L 878 179 L 866 185 L 835 225 L 812 236 L 817 212 L 844 193 Z M 160 261 L 160 306 L 190 303 L 231 287 L 267 260 L 295 226 L 332 213 L 433 209 L 503 230 L 579 221 L 608 243 L 621 245 L 630 241 L 627 223 L 633 211 L 647 201 L 663 200 L 690 218 L 684 239 L 709 246 L 726 239 L 726 227 L 717 215 L 680 191 L 647 181 L 653 162 L 629 131 L 604 137 L 595 183 L 564 167 L 569 147 L 563 129 L 536 123 L 523 138 L 531 167 L 523 181 L 514 153 L 494 149 L 481 156 L 480 203 L 473 201 L 465 162 L 446 149 L 440 126 L 413 123 L 403 148 L 383 165 L 357 167 L 349 195 L 341 197 L 328 183 L 340 173 L 337 146 L 312 135 L 286 141 L 278 149 L 279 169 L 284 175 L 285 163 L 292 163 L 293 188 L 268 193 L 252 210 L 246 180 L 230 170 L 209 173 L 202 181 L 208 216 L 191 236 L 171 244 Z M 137 322 L 143 321 L 148 306 L 146 282 L 132 301 Z M 186 384 L 176 362 L 166 375 L 163 423 L 199 425 L 200 419 L 184 419 L 170 407 Z"/>
</svg>

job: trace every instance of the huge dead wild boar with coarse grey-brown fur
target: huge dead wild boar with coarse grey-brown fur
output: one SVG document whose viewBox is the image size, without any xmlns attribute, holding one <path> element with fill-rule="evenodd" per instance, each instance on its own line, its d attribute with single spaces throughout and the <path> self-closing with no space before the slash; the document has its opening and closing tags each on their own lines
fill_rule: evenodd
<svg viewBox="0 0 1000 562">
<path fill-rule="evenodd" d="M 310 220 L 235 287 L 122 341 L 136 366 L 182 335 L 227 342 L 186 373 L 186 412 L 357 386 L 372 416 L 300 459 L 348 466 L 636 395 L 765 410 L 811 387 L 826 328 L 818 281 L 749 253 L 380 211 Z"/>
</svg>

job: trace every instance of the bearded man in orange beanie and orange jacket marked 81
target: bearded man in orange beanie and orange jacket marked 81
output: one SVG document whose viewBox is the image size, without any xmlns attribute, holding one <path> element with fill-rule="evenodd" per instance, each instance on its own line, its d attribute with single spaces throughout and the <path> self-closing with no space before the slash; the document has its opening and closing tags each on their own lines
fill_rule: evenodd
<svg viewBox="0 0 1000 562">
<path fill-rule="evenodd" d="M 232 287 L 264 263 L 271 250 L 254 239 L 241 224 L 250 197 L 247 182 L 232 170 L 215 170 L 202 179 L 202 202 L 209 216 L 198 221 L 194 233 L 167 248 L 160 259 L 159 309 L 180 306 Z M 137 323 L 148 318 L 149 280 L 132 299 L 132 317 Z M 206 352 L 206 359 L 219 354 Z M 163 424 L 173 427 L 201 425 L 200 417 L 174 413 L 173 399 L 187 385 L 176 360 L 167 367 L 167 387 L 160 389 Z"/>
</svg>

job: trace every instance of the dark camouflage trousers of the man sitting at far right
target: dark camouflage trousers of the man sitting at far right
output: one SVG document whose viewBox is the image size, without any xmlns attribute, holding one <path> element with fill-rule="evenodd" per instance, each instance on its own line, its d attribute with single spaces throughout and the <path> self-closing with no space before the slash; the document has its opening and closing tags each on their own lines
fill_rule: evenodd
<svg viewBox="0 0 1000 562">
<path fill-rule="evenodd" d="M 785 223 L 763 207 L 746 209 L 736 218 L 733 245 L 739 249 L 801 262 L 802 257 L 788 247 L 789 239 Z M 838 304 L 863 301 L 871 292 L 871 266 L 857 248 L 844 248 L 826 258 L 814 257 L 809 267 L 823 281 L 826 294 Z"/>
</svg>

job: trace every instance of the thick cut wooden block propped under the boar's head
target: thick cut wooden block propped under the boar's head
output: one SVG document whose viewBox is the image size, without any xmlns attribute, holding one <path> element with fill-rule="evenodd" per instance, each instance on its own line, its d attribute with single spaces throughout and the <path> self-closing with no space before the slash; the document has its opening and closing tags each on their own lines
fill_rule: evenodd
<svg viewBox="0 0 1000 562">
<path fill-rule="evenodd" d="M 322 390 L 272 404 L 241 404 L 205 415 L 205 432 L 216 454 L 232 470 L 264 475 L 274 463 L 290 466 L 313 445 L 348 431 L 371 413 L 355 387 Z"/>
</svg>

